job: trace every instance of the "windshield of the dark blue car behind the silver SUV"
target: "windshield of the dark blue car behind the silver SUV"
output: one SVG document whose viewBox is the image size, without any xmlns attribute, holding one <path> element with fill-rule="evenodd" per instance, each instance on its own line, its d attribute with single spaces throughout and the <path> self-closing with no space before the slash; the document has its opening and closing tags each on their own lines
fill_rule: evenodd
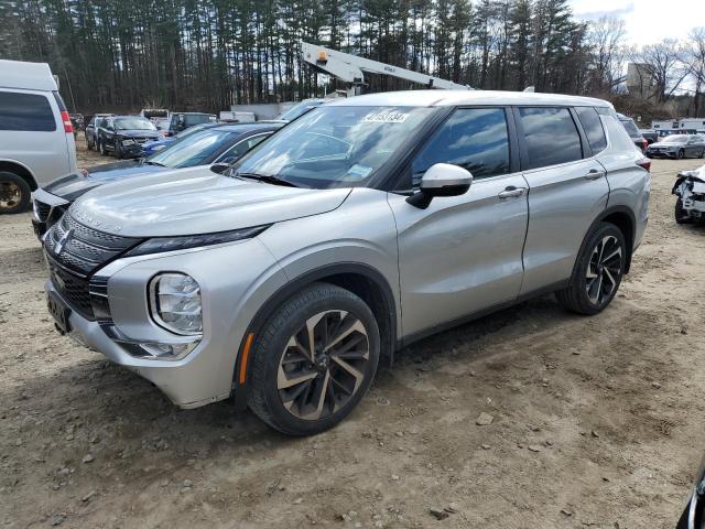
<svg viewBox="0 0 705 529">
<path fill-rule="evenodd" d="M 238 137 L 228 130 L 202 130 L 173 142 L 163 151 L 149 158 L 149 161 L 166 168 L 193 168 L 210 163 Z"/>
</svg>

